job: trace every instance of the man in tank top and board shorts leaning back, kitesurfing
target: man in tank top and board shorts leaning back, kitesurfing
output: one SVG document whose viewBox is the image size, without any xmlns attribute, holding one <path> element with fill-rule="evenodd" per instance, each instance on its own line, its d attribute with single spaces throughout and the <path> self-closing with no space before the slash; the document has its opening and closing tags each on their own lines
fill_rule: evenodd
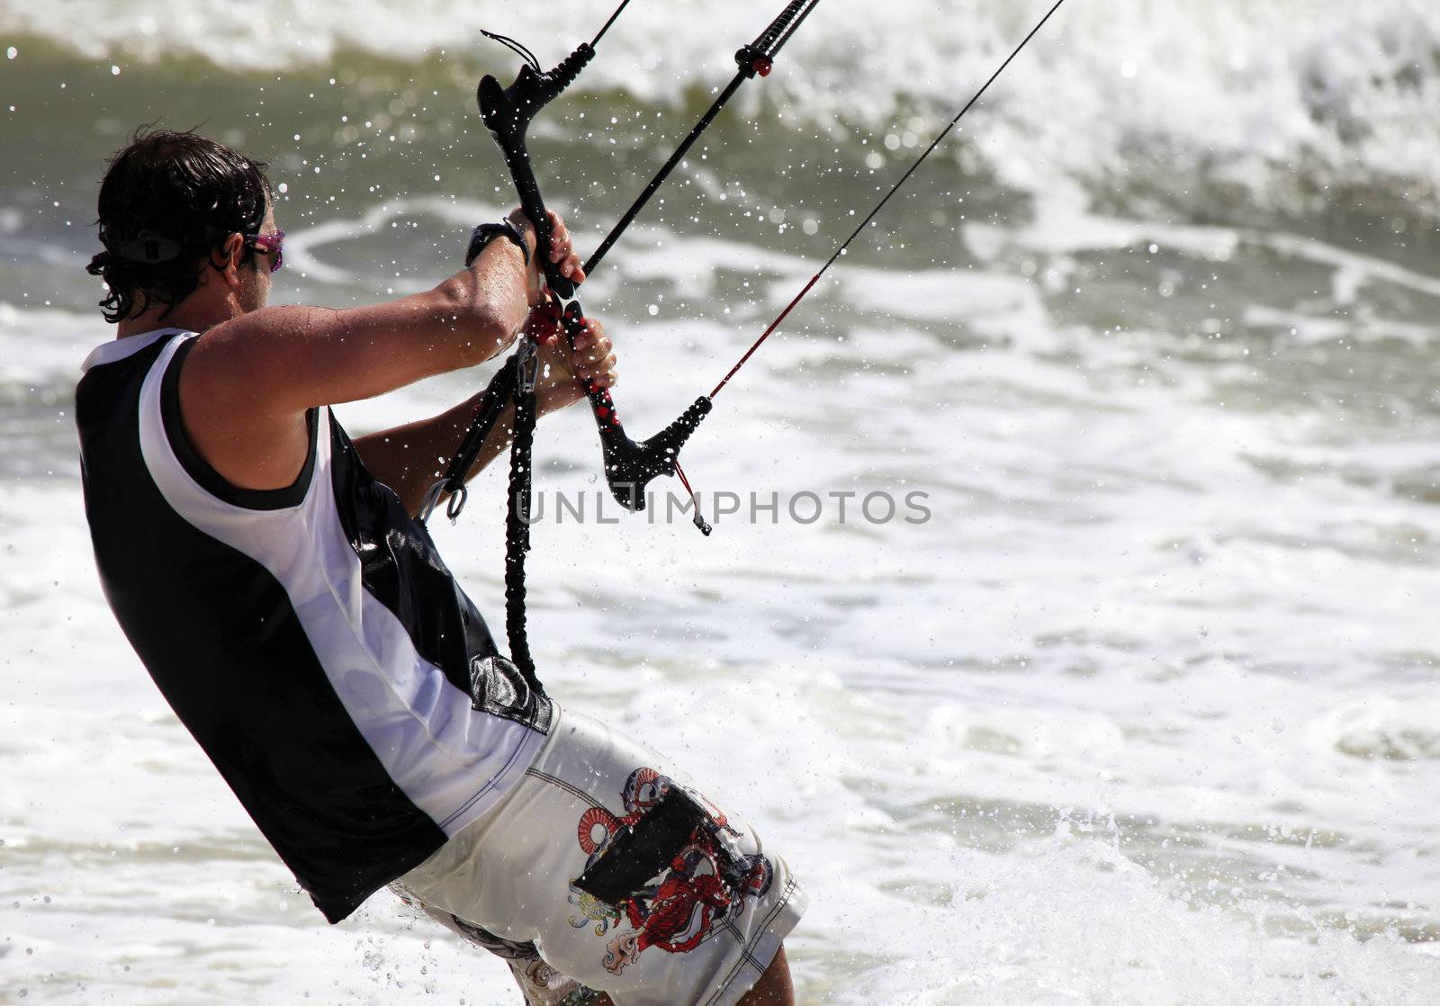
<svg viewBox="0 0 1440 1006">
<path fill-rule="evenodd" d="M 533 1005 L 791 1003 L 785 861 L 505 661 L 415 520 L 477 402 L 354 440 L 330 410 L 521 332 L 543 343 L 540 413 L 611 386 L 599 322 L 572 348 L 541 307 L 540 255 L 583 279 L 553 223 L 549 249 L 518 210 L 477 227 L 467 268 L 413 296 L 271 308 L 264 166 L 137 134 L 89 266 L 118 332 L 76 390 L 105 596 L 331 923 L 390 885 L 505 957 Z"/>
</svg>

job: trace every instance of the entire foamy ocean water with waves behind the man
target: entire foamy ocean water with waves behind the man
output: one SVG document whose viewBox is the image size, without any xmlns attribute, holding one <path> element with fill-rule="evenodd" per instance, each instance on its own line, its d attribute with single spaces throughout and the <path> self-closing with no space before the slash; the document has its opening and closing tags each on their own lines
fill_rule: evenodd
<svg viewBox="0 0 1440 1006">
<path fill-rule="evenodd" d="M 770 6 L 631 4 L 536 130 L 582 248 Z M 825 0 L 583 291 L 632 432 L 1044 7 Z M 511 204 L 478 29 L 553 63 L 608 13 L 0 0 L 0 1002 L 517 1000 L 387 895 L 327 927 L 127 648 L 69 414 L 111 335 L 82 266 L 105 157 L 161 121 L 271 161 L 275 301 L 425 288 Z M 1436 108 L 1418 0 L 1070 0 L 717 399 L 685 453 L 739 511 L 713 537 L 598 514 L 589 417 L 541 425 L 541 674 L 783 851 L 801 1002 L 1440 1002 Z M 436 524 L 495 625 L 503 495 Z"/>
</svg>

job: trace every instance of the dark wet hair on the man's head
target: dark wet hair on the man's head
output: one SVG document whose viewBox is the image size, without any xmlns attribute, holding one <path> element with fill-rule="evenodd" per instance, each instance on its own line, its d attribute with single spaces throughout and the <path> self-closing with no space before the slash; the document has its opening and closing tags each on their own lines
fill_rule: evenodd
<svg viewBox="0 0 1440 1006">
<path fill-rule="evenodd" d="M 85 271 L 109 295 L 99 302 L 115 322 L 164 304 L 164 318 L 200 285 L 215 250 L 265 220 L 271 184 L 265 164 L 193 131 L 141 127 L 118 151 L 99 186 L 99 242 Z M 240 262 L 253 262 L 246 248 Z"/>
</svg>

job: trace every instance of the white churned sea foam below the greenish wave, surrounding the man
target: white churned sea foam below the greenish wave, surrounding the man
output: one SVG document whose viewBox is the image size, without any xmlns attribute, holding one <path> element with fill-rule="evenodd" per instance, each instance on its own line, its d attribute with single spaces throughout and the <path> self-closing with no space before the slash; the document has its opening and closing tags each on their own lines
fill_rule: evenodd
<svg viewBox="0 0 1440 1006">
<path fill-rule="evenodd" d="M 707 499 L 923 489 L 932 520 L 543 521 L 546 679 L 795 864 L 805 1003 L 1434 1002 L 1433 279 L 1081 206 L 969 227 L 965 271 L 837 268 L 687 448 Z M 495 210 L 395 199 L 297 226 L 297 275 L 366 291 L 336 242 Z M 814 263 L 636 237 L 586 301 L 612 302 L 618 394 L 648 433 Z M 732 314 L 672 309 L 708 307 L 724 272 L 752 281 Z M 324 928 L 127 648 L 63 414 L 107 334 L 0 307 L 0 997 L 511 1000 L 495 963 L 383 895 Z M 373 429 L 478 383 L 337 412 Z M 583 410 L 537 452 L 543 492 L 602 491 Z M 501 497 L 487 472 L 433 527 L 488 612 Z"/>
</svg>

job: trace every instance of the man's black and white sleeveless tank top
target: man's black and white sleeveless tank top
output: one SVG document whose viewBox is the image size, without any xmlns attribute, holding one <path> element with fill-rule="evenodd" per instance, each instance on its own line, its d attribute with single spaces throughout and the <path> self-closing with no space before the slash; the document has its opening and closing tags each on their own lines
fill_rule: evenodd
<svg viewBox="0 0 1440 1006">
<path fill-rule="evenodd" d="M 107 343 L 76 389 L 111 609 L 315 905 L 344 918 L 494 806 L 550 704 L 495 645 L 328 409 L 294 485 L 229 485 L 189 445 L 194 332 Z"/>
</svg>

